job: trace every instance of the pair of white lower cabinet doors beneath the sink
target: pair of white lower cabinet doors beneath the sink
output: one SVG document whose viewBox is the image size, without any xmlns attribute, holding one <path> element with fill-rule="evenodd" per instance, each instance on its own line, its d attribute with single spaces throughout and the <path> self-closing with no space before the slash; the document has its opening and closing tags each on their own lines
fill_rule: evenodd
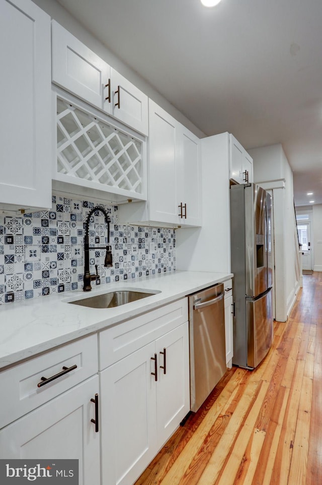
<svg viewBox="0 0 322 485">
<path fill-rule="evenodd" d="M 189 412 L 188 322 L 100 372 L 100 393 L 102 483 L 130 485 Z"/>
</svg>

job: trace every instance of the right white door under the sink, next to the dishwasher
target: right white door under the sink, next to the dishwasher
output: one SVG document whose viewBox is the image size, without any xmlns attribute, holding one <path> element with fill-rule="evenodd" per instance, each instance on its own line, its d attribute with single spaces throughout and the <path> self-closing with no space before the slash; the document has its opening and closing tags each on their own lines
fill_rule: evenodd
<svg viewBox="0 0 322 485">
<path fill-rule="evenodd" d="M 162 446 L 190 410 L 188 322 L 155 341 L 157 444 Z"/>
</svg>

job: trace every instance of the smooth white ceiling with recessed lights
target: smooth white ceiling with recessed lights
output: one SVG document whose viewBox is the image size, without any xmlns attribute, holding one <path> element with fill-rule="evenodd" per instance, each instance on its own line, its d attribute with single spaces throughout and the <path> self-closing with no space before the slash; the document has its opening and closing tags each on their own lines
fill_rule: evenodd
<svg viewBox="0 0 322 485">
<path fill-rule="evenodd" d="M 206 135 L 281 143 L 295 204 L 322 203 L 321 0 L 59 3 Z"/>
</svg>

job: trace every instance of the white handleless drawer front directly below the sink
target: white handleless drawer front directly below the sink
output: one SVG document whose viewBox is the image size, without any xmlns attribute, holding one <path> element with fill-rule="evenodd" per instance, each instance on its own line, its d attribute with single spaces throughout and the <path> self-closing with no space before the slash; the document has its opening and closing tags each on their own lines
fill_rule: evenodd
<svg viewBox="0 0 322 485">
<path fill-rule="evenodd" d="M 99 369 L 126 357 L 188 320 L 188 300 L 178 301 L 103 330 L 99 334 Z"/>
</svg>

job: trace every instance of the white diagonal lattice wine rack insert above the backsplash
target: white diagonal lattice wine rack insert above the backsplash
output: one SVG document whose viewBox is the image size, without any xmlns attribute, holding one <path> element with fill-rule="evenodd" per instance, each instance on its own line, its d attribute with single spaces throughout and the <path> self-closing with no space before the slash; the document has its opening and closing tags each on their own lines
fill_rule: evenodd
<svg viewBox="0 0 322 485">
<path fill-rule="evenodd" d="M 94 115 L 57 98 L 57 171 L 140 194 L 142 145 Z"/>
</svg>

